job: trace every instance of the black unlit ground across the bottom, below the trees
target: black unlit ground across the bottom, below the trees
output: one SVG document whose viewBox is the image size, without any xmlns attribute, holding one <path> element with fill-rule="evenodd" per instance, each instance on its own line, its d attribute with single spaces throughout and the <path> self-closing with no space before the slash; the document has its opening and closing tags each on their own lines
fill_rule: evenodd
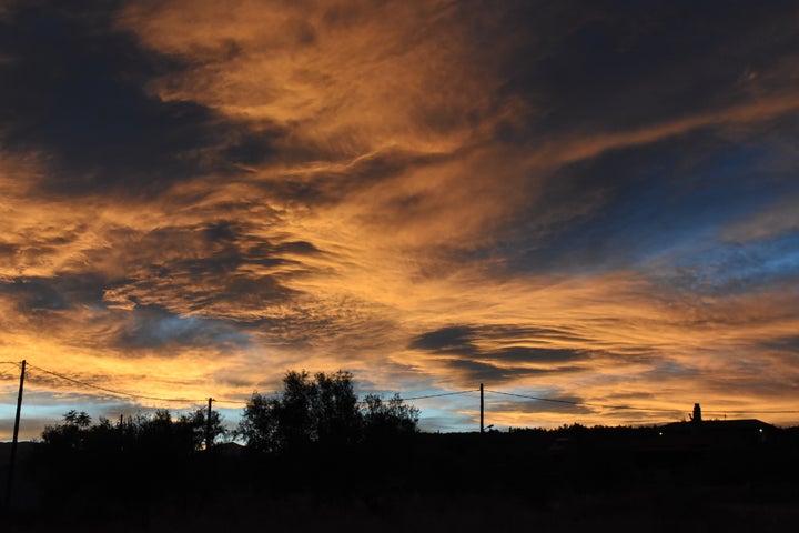
<svg viewBox="0 0 799 533">
<path fill-rule="evenodd" d="M 2 531 L 796 531 L 792 433 L 657 447 L 607 431 L 419 434 L 282 457 L 53 456 L 23 443 Z"/>
</svg>

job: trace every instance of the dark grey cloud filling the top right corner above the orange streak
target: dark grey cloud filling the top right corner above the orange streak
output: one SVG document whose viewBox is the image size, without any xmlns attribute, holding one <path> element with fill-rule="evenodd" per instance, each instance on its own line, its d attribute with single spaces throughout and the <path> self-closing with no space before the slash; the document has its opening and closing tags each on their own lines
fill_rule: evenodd
<svg viewBox="0 0 799 533">
<path fill-rule="evenodd" d="M 476 33 L 505 43 L 494 58 L 506 80 L 503 92 L 547 110 L 522 124 L 502 124 L 499 137 L 512 142 L 574 128 L 607 133 L 724 109 L 750 97 L 749 74 L 775 68 L 799 46 L 791 1 L 770 1 L 767 9 L 725 0 L 503 7 L 486 17 L 489 22 L 475 23 Z"/>
</svg>

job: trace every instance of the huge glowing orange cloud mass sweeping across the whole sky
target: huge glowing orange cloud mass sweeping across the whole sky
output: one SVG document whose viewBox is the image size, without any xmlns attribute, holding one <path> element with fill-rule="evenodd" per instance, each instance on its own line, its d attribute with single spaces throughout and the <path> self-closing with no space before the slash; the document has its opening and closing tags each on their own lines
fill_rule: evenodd
<svg viewBox="0 0 799 533">
<path fill-rule="evenodd" d="M 499 23 L 457 2 L 145 1 L 115 20 L 181 66 L 150 81 L 153 101 L 198 104 L 224 134 L 181 152 L 202 163 L 196 175 L 150 197 L 68 198 L 51 190 L 51 154 L 0 151 L 2 359 L 163 398 L 242 400 L 286 369 L 343 368 L 386 391 L 492 378 L 595 404 L 791 406 L 795 281 L 707 295 L 644 266 L 514 271 L 493 248 L 600 211 L 601 188 L 542 204 L 568 165 L 796 115 L 799 98 L 769 84 L 789 60 L 721 88 L 714 109 L 502 139 L 545 122 L 545 102 L 507 89 L 499 60 L 517 43 L 484 49 L 475 24 Z M 722 238 L 793 232 L 796 201 L 782 202 Z M 414 343 L 458 328 L 459 344 Z M 45 378 L 32 386 L 91 392 Z M 508 425 L 667 416 L 493 401 Z"/>
</svg>

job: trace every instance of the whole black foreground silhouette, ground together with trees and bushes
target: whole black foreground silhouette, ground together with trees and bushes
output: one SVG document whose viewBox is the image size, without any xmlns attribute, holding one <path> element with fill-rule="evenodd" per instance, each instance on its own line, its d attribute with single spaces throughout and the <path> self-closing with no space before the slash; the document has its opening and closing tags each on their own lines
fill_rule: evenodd
<svg viewBox="0 0 799 533">
<path fill-rule="evenodd" d="M 671 438 L 666 426 L 431 434 L 415 431 L 416 412 L 400 400 L 353 401 L 348 374 L 290 373 L 285 384 L 282 396 L 247 405 L 239 429 L 247 446 L 222 442 L 212 416 L 216 442 L 204 449 L 202 411 L 98 424 L 68 413 L 20 449 L 2 530 L 704 532 L 798 523 L 796 428 L 710 440 L 699 425 Z"/>
</svg>

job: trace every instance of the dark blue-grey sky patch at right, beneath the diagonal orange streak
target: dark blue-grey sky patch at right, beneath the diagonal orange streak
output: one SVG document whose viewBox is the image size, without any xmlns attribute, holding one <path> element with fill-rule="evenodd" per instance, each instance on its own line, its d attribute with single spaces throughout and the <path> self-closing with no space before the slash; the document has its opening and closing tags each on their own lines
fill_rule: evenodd
<svg viewBox="0 0 799 533">
<path fill-rule="evenodd" d="M 781 153 L 757 139 L 741 144 L 707 131 L 606 152 L 558 169 L 529 209 L 497 230 L 497 241 L 453 250 L 452 258 L 492 258 L 496 275 L 668 261 L 681 270 L 647 274 L 690 291 L 747 290 L 796 271 L 795 234 L 746 245 L 717 241 L 728 224 L 796 195 L 796 180 L 767 170 Z"/>
</svg>

